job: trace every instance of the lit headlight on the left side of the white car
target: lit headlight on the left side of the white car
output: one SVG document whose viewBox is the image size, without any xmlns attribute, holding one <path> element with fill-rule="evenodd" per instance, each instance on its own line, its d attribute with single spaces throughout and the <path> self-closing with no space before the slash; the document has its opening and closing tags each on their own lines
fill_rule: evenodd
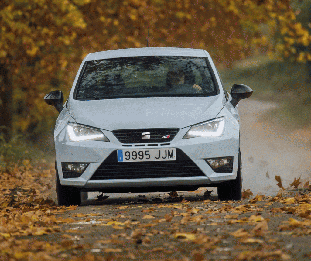
<svg viewBox="0 0 311 261">
<path fill-rule="evenodd" d="M 68 122 L 67 133 L 70 141 L 94 140 L 109 142 L 109 139 L 100 129 L 73 122 Z"/>
</svg>

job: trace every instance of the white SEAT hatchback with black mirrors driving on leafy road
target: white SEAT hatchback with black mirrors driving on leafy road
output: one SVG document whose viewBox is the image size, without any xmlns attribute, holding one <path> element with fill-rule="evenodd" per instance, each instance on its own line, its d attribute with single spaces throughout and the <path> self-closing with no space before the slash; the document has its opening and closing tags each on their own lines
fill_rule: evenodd
<svg viewBox="0 0 311 261">
<path fill-rule="evenodd" d="M 246 85 L 224 90 L 202 49 L 133 48 L 88 54 L 54 130 L 59 205 L 81 193 L 188 191 L 217 187 L 241 198 L 240 99 Z M 85 194 L 85 193 L 84 193 Z"/>
</svg>

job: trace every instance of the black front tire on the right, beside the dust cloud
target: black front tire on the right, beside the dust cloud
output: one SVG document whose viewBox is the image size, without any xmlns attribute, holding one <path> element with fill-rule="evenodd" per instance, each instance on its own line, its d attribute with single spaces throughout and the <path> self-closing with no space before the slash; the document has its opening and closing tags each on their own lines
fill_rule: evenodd
<svg viewBox="0 0 311 261">
<path fill-rule="evenodd" d="M 239 151 L 239 164 L 236 179 L 222 182 L 217 187 L 220 200 L 240 200 L 242 198 L 241 152 Z"/>
</svg>

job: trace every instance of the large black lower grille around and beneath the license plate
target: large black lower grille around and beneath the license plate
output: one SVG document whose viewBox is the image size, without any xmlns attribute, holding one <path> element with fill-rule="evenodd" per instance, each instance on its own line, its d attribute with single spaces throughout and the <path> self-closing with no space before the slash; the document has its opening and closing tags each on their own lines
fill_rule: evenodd
<svg viewBox="0 0 311 261">
<path fill-rule="evenodd" d="M 176 161 L 117 162 L 113 151 L 95 171 L 91 179 L 145 179 L 205 176 L 180 149 Z"/>
</svg>

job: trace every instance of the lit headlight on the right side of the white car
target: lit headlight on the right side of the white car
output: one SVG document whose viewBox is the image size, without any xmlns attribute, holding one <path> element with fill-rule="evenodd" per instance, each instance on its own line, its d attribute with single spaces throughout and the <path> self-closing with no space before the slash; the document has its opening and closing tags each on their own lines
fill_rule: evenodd
<svg viewBox="0 0 311 261">
<path fill-rule="evenodd" d="M 221 117 L 194 125 L 188 130 L 183 139 L 202 136 L 221 137 L 224 135 L 225 123 L 225 117 Z"/>
</svg>

